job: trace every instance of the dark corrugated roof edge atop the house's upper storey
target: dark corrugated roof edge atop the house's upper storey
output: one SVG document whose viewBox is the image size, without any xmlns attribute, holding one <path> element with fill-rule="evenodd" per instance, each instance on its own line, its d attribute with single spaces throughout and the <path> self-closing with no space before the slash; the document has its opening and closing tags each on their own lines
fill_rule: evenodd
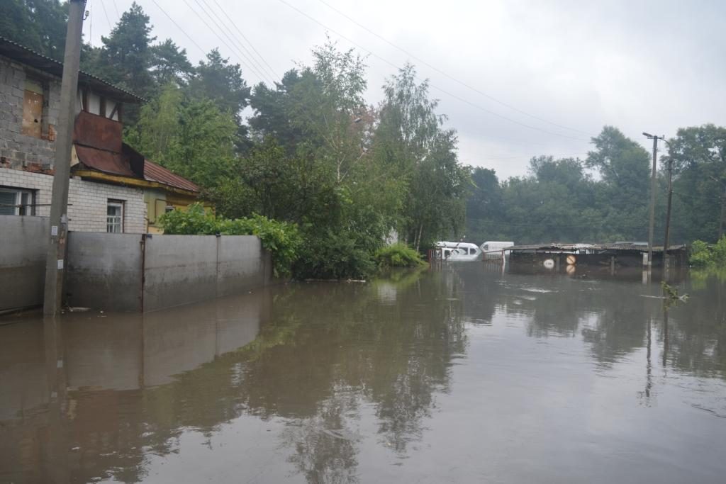
<svg viewBox="0 0 726 484">
<path fill-rule="evenodd" d="M 9 57 L 12 60 L 35 67 L 46 73 L 56 75 L 61 78 L 63 75 L 63 63 L 47 57 L 33 49 L 11 41 L 9 38 L 0 36 L 0 55 Z M 136 94 L 114 86 L 112 83 L 105 81 L 91 73 L 83 70 L 78 71 L 78 84 L 91 87 L 99 94 L 106 94 L 109 97 L 121 102 L 139 103 L 144 102 L 144 98 L 136 96 Z"/>
</svg>

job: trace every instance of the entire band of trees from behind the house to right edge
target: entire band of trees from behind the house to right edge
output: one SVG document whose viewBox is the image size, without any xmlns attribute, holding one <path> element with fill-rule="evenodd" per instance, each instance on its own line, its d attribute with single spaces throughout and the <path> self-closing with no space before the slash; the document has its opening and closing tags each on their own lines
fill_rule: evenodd
<svg viewBox="0 0 726 484">
<path fill-rule="evenodd" d="M 0 30 L 62 60 L 67 5 L 7 0 Z M 302 234 L 295 274 L 359 276 L 393 234 L 416 250 L 436 239 L 617 242 L 648 239 L 650 153 L 605 126 L 584 160 L 533 157 L 526 176 L 499 180 L 457 159 L 427 81 L 405 65 L 365 102 L 365 59 L 327 41 L 274 85 L 245 81 L 212 49 L 192 65 L 153 36 L 133 4 L 81 67 L 147 99 L 124 111 L 127 143 L 203 188 L 219 216 L 255 214 Z M 673 167 L 674 243 L 715 241 L 726 216 L 726 128 L 682 128 L 658 171 L 656 242 Z"/>
</svg>

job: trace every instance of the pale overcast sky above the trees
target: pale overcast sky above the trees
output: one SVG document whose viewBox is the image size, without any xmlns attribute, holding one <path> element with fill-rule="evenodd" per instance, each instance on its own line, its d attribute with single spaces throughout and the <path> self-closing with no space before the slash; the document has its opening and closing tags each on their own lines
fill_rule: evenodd
<svg viewBox="0 0 726 484">
<path fill-rule="evenodd" d="M 324 1 L 138 3 L 158 40 L 172 38 L 193 63 L 219 46 L 250 85 L 265 74 L 240 55 L 248 55 L 236 44 L 248 46 L 240 32 L 272 67 L 256 57 L 272 70 L 266 77 L 277 79 L 295 62 L 309 63 L 327 32 L 368 56 L 373 104 L 394 66 L 408 60 L 430 79 L 439 111 L 457 130 L 460 160 L 500 178 L 526 174 L 532 156 L 584 157 L 605 125 L 648 149 L 643 131 L 672 136 L 683 126 L 726 125 L 723 1 Z M 86 41 L 99 45 L 130 5 L 89 0 Z"/>
</svg>

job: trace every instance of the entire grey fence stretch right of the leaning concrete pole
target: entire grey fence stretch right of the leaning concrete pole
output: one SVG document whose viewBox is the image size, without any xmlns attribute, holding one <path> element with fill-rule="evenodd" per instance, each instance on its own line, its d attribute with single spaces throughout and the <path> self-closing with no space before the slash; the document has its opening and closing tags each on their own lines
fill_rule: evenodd
<svg viewBox="0 0 726 484">
<path fill-rule="evenodd" d="M 248 292 L 271 276 L 258 237 L 72 232 L 65 292 L 71 306 L 147 312 Z"/>
</svg>

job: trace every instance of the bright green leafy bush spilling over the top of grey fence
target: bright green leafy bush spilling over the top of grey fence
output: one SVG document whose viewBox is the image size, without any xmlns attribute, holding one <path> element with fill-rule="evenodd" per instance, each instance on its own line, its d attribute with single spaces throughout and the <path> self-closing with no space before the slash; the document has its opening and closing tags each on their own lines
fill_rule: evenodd
<svg viewBox="0 0 726 484">
<path fill-rule="evenodd" d="M 289 275 L 298 258 L 302 237 L 293 223 L 254 215 L 249 218 L 217 217 L 206 213 L 200 204 L 187 210 L 174 210 L 160 217 L 165 234 L 177 235 L 256 235 L 262 247 L 272 253 L 275 276 Z"/>
</svg>

